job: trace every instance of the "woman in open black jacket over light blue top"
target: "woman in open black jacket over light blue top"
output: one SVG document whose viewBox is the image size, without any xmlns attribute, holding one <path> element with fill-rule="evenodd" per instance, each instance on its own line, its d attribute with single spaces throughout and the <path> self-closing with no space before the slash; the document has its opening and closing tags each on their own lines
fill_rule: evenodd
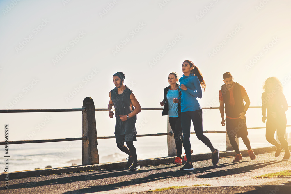
<svg viewBox="0 0 291 194">
<path fill-rule="evenodd" d="M 161 106 L 164 106 L 162 116 L 169 115 L 169 123 L 174 132 L 174 139 L 176 143 L 177 149 L 177 157 L 173 161 L 173 163 L 182 165 L 182 148 L 183 148 L 183 136 L 182 136 L 182 128 L 181 128 L 181 106 L 180 102 L 175 104 L 173 102 L 174 98 L 179 98 L 181 96 L 181 91 L 179 85 L 177 84 L 178 74 L 176 72 L 172 72 L 169 74 L 168 82 L 170 86 L 164 89 L 164 99 L 160 102 Z M 192 151 L 193 152 L 193 151 Z M 186 158 L 186 157 L 185 157 Z M 184 159 L 185 159 L 184 158 Z"/>
</svg>

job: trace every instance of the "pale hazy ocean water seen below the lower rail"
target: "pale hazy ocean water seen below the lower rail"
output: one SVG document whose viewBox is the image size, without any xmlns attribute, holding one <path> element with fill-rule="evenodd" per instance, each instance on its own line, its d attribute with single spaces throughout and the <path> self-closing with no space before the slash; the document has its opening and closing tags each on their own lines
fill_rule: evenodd
<svg viewBox="0 0 291 194">
<path fill-rule="evenodd" d="M 290 128 L 290 127 L 289 127 Z M 290 133 L 290 130 L 288 129 Z M 288 134 L 290 136 L 290 134 Z M 213 146 L 220 151 L 226 150 L 225 133 L 205 134 Z M 252 148 L 272 146 L 265 138 L 265 129 L 249 130 L 249 139 Z M 209 153 L 210 150 L 195 134 L 191 134 L 191 149 L 194 154 Z M 291 140 L 289 140 L 291 144 Z M 134 142 L 137 150 L 138 159 L 147 159 L 154 157 L 166 157 L 167 154 L 167 138 L 166 136 L 154 137 L 138 137 Z M 2 150 L 4 146 L 1 145 Z M 242 140 L 239 140 L 240 149 L 246 149 Z M 98 152 L 100 163 L 123 161 L 127 155 L 121 152 L 115 143 L 115 139 L 98 140 Z M 184 153 L 184 150 L 183 150 Z M 54 143 L 30 143 L 22 145 L 10 145 L 9 147 L 9 172 L 21 170 L 34 170 L 36 168 L 45 168 L 46 166 L 64 167 L 82 164 L 82 142 L 54 142 Z M 0 172 L 4 172 L 5 164 L 3 160 L 0 162 Z"/>
</svg>

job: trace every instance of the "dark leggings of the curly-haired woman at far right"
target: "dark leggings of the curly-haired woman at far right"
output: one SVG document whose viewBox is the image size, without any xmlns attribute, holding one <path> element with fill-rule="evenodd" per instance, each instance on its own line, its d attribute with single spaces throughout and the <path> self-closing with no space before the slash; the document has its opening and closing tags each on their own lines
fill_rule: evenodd
<svg viewBox="0 0 291 194">
<path fill-rule="evenodd" d="M 268 118 L 266 123 L 266 139 L 269 143 L 276 147 L 281 147 L 280 144 L 274 139 L 275 131 L 277 130 L 278 139 L 285 149 L 289 152 L 288 142 L 285 139 L 287 119 L 286 115 L 277 118 Z"/>
</svg>

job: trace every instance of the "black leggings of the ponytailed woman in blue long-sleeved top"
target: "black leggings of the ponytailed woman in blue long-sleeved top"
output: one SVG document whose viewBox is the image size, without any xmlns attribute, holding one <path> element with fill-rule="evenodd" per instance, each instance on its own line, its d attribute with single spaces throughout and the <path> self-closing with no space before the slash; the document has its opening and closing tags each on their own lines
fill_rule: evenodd
<svg viewBox="0 0 291 194">
<path fill-rule="evenodd" d="M 203 128 L 202 128 L 202 109 L 196 111 L 187 111 L 181 112 L 181 127 L 184 136 L 184 149 L 186 153 L 187 162 L 191 162 L 191 155 L 190 155 L 190 127 L 191 127 L 191 120 L 193 122 L 193 127 L 197 138 L 202 141 L 211 152 L 214 152 L 215 149 L 210 142 L 210 140 L 204 136 Z"/>
</svg>

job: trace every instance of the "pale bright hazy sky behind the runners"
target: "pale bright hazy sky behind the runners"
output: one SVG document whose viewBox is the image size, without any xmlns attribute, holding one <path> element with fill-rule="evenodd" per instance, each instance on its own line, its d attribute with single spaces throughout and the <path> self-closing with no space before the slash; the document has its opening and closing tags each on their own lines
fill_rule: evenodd
<svg viewBox="0 0 291 194">
<path fill-rule="evenodd" d="M 88 96 L 107 108 L 118 71 L 143 108 L 160 107 L 168 74 L 182 76 L 184 60 L 203 73 L 203 107 L 219 105 L 226 71 L 251 106 L 260 106 L 270 76 L 291 104 L 289 0 L 3 0 L 0 8 L 0 109 L 81 108 Z M 137 124 L 148 124 L 139 134 L 159 132 L 160 115 L 141 112 Z M 113 135 L 107 112 L 96 112 L 96 121 L 99 136 Z M 0 124 L 10 125 L 10 140 L 68 138 L 80 136 L 81 113 L 1 113 Z"/>
</svg>

